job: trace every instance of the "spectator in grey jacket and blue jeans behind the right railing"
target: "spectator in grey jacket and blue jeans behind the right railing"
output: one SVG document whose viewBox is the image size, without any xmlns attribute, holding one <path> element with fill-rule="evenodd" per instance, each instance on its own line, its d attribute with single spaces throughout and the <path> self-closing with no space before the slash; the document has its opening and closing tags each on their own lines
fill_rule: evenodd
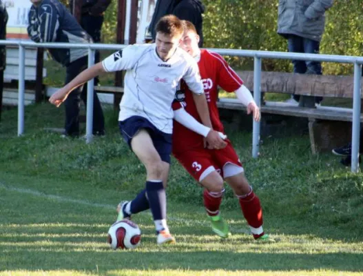
<svg viewBox="0 0 363 276">
<path fill-rule="evenodd" d="M 289 52 L 318 54 L 325 27 L 325 11 L 333 0 L 279 0 L 278 34 L 287 39 Z M 293 60 L 293 72 L 322 75 L 320 61 Z M 315 107 L 322 97 L 293 95 L 299 106 Z"/>
</svg>

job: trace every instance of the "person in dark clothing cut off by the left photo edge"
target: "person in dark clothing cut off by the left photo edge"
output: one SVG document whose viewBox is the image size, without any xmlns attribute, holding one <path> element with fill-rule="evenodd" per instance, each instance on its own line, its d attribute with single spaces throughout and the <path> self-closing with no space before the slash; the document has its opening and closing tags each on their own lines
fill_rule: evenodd
<svg viewBox="0 0 363 276">
<path fill-rule="evenodd" d="M 4 3 L 0 0 L 0 39 L 6 39 L 6 23 L 8 23 L 8 12 Z M 3 71 L 6 67 L 6 47 L 0 46 L 0 121 L 1 106 L 3 105 Z"/>
</svg>

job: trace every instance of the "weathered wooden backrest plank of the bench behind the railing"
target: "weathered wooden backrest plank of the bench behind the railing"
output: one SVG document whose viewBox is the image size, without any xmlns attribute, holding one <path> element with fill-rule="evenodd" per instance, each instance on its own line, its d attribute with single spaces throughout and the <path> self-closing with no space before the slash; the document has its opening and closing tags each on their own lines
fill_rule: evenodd
<svg viewBox="0 0 363 276">
<path fill-rule="evenodd" d="M 253 88 L 253 71 L 236 71 Z M 363 81 L 362 87 L 363 90 Z M 353 76 L 307 75 L 289 72 L 262 72 L 261 91 L 307 96 L 353 98 Z"/>
</svg>

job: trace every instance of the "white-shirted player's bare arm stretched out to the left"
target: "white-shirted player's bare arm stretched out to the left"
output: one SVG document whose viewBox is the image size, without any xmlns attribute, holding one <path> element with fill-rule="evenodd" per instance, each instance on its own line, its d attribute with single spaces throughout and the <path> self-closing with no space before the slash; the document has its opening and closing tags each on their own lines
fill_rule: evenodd
<svg viewBox="0 0 363 276">
<path fill-rule="evenodd" d="M 101 62 L 96 63 L 94 66 L 87 68 L 83 72 L 79 73 L 77 77 L 72 79 L 70 83 L 65 85 L 63 88 L 56 91 L 52 97 L 50 97 L 50 103 L 54 104 L 54 106 L 59 107 L 65 99 L 67 99 L 70 92 L 72 92 L 77 87 L 81 86 L 83 83 L 101 75 L 102 73 L 106 72 L 102 66 Z"/>
</svg>

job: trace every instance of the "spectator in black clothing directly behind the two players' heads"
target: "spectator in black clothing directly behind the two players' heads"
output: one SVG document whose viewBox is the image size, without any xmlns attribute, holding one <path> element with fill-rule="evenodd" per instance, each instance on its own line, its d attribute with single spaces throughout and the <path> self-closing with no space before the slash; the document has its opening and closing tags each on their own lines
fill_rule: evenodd
<svg viewBox="0 0 363 276">
<path fill-rule="evenodd" d="M 158 20 L 166 14 L 174 14 L 181 20 L 187 20 L 194 24 L 200 37 L 199 47 L 203 47 L 203 17 L 205 7 L 200 0 L 158 0 L 152 21 L 149 26 L 149 32 L 155 41 L 155 26 Z"/>
</svg>

